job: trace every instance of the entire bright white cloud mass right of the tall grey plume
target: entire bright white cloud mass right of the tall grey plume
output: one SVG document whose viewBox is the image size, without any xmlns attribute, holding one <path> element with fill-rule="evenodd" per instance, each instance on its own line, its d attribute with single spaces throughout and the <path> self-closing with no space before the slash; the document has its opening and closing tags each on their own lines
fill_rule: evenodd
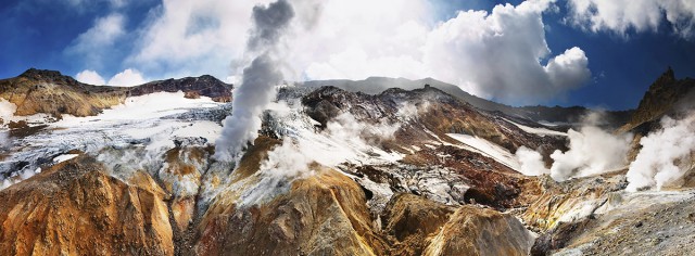
<svg viewBox="0 0 695 256">
<path fill-rule="evenodd" d="M 552 1 L 459 12 L 441 24 L 428 21 L 431 7 L 425 1 L 386 2 L 366 12 L 350 7 L 326 2 L 316 29 L 290 42 L 296 54 L 289 59 L 302 77 L 433 77 L 509 103 L 545 100 L 591 77 L 579 48 L 542 64 L 551 54 L 542 13 Z"/>
</svg>

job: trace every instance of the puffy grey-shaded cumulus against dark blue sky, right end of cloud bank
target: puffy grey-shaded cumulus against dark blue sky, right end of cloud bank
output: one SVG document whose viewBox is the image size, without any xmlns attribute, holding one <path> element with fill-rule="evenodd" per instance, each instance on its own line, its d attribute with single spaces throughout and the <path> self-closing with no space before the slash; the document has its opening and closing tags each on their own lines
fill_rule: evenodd
<svg viewBox="0 0 695 256">
<path fill-rule="evenodd" d="M 434 78 L 509 103 L 528 103 L 564 93 L 589 80 L 587 57 L 579 48 L 542 65 L 551 53 L 542 13 L 548 1 L 459 12 L 428 38 L 425 63 Z"/>
</svg>

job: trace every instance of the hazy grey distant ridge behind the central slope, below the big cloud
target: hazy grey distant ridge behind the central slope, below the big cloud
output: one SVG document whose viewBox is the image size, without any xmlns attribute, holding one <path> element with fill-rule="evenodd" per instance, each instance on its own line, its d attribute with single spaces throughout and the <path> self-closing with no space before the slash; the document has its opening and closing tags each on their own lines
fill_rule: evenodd
<svg viewBox="0 0 695 256">
<path fill-rule="evenodd" d="M 551 123 L 578 123 L 582 117 L 592 110 L 583 106 L 521 106 L 515 107 L 497 102 L 489 101 L 472 95 L 459 87 L 439 81 L 432 78 L 419 80 L 409 80 L 405 78 L 387 78 L 387 77 L 369 77 L 365 80 L 314 80 L 300 84 L 304 87 L 317 88 L 323 86 L 333 86 L 352 92 L 364 92 L 368 94 L 378 94 L 389 88 L 401 88 L 405 90 L 414 90 L 422 88 L 426 85 L 438 88 L 448 94 L 470 103 L 471 105 L 490 112 L 501 112 L 507 117 L 523 123 L 523 119 L 533 121 L 551 121 Z M 631 111 L 608 111 L 605 112 L 606 125 L 618 127 L 626 124 L 630 118 Z"/>
</svg>

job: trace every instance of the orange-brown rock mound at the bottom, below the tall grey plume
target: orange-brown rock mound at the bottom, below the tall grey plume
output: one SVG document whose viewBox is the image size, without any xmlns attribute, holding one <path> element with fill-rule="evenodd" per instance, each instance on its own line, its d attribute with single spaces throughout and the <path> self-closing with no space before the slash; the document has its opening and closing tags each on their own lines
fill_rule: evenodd
<svg viewBox="0 0 695 256">
<path fill-rule="evenodd" d="M 251 206 L 213 203 L 201 226 L 201 255 L 374 255 L 386 243 L 371 230 L 365 195 L 334 170 L 292 183 Z"/>
</svg>

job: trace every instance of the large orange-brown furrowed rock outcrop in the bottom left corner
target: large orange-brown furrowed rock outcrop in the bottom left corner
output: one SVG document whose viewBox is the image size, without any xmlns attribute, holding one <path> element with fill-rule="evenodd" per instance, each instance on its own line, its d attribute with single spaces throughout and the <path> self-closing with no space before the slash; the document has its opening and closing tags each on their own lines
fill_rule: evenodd
<svg viewBox="0 0 695 256">
<path fill-rule="evenodd" d="M 173 255 L 163 191 L 103 170 L 79 156 L 0 191 L 0 254 Z"/>
</svg>

